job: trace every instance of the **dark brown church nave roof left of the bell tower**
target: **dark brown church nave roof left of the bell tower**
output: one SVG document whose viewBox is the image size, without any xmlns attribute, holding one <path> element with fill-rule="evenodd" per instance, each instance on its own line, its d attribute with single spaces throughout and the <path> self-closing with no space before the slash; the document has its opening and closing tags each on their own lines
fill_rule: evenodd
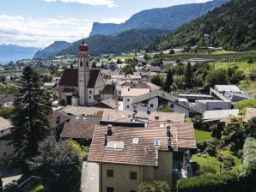
<svg viewBox="0 0 256 192">
<path fill-rule="evenodd" d="M 78 87 L 78 69 L 64 69 L 59 86 Z"/>
</svg>

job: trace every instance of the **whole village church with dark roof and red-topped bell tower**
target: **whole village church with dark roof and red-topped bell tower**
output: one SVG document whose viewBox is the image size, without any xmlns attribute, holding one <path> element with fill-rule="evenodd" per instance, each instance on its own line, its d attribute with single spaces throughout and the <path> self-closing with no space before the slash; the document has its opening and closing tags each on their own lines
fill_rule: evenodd
<svg viewBox="0 0 256 192">
<path fill-rule="evenodd" d="M 88 45 L 79 46 L 77 69 L 65 69 L 59 81 L 59 102 L 62 105 L 93 105 L 101 100 L 105 88 L 101 69 L 90 69 Z"/>
</svg>

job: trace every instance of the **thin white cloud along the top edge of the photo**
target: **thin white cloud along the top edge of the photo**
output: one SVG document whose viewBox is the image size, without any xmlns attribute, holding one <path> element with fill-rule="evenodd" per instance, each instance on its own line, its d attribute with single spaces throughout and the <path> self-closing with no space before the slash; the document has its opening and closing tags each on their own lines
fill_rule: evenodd
<svg viewBox="0 0 256 192">
<path fill-rule="evenodd" d="M 108 8 L 117 7 L 116 3 L 113 0 L 45 0 L 48 3 L 61 1 L 63 3 L 82 3 L 89 4 L 93 6 L 107 6 Z"/>
</svg>

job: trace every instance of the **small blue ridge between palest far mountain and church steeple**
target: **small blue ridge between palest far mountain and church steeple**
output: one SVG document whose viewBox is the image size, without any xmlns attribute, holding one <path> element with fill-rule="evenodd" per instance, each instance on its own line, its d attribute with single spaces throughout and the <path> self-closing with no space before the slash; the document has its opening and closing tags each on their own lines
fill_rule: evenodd
<svg viewBox="0 0 256 192">
<path fill-rule="evenodd" d="M 45 49 L 41 51 L 37 51 L 34 54 L 34 59 L 42 59 L 42 58 L 48 58 L 53 57 L 58 53 L 58 51 L 61 51 L 67 47 L 69 47 L 71 44 L 66 41 L 54 41 L 53 44 L 47 46 Z"/>
</svg>

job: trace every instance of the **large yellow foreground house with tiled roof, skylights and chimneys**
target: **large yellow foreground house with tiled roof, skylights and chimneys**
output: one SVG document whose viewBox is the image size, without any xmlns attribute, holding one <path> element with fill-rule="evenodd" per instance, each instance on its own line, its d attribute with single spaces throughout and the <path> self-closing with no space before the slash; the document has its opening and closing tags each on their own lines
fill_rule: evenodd
<svg viewBox="0 0 256 192">
<path fill-rule="evenodd" d="M 88 161 L 100 165 L 99 191 L 136 192 L 140 183 L 152 180 L 166 180 L 171 187 L 178 143 L 196 147 L 193 130 L 191 139 L 177 137 L 184 125 L 192 129 L 192 123 L 150 122 L 147 128 L 133 123 L 96 125 Z"/>
</svg>

